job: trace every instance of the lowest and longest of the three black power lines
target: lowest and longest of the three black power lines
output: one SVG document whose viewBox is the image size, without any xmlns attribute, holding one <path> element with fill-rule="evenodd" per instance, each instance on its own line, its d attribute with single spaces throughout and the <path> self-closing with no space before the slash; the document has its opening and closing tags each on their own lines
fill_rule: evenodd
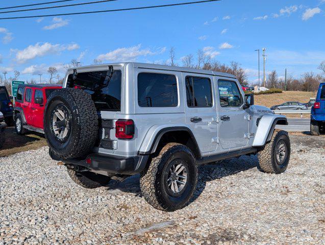
<svg viewBox="0 0 325 245">
<path fill-rule="evenodd" d="M 138 7 L 138 8 L 111 9 L 111 10 L 78 12 L 78 13 L 44 14 L 44 15 L 32 15 L 32 16 L 6 17 L 6 18 L 0 18 L 0 20 L 1 19 L 24 19 L 24 18 L 52 17 L 52 16 L 64 16 L 64 15 L 79 15 L 79 14 L 94 14 L 94 13 L 119 12 L 119 11 L 140 10 L 140 9 L 154 9 L 154 8 L 181 6 L 181 5 L 202 4 L 202 3 L 217 2 L 217 1 L 221 1 L 221 0 L 207 0 L 207 1 L 180 3 L 180 4 L 166 4 L 166 5 L 146 6 L 146 7 Z"/>
</svg>

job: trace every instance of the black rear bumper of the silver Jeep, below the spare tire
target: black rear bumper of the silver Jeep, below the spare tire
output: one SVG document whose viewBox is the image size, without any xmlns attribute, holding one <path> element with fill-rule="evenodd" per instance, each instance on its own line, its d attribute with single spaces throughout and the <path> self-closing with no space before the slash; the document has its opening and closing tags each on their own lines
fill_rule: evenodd
<svg viewBox="0 0 325 245">
<path fill-rule="evenodd" d="M 145 168 L 148 157 L 149 155 L 121 157 L 92 153 L 84 159 L 64 159 L 63 162 L 65 164 L 83 166 L 91 171 L 104 171 L 109 174 L 119 175 L 136 175 Z"/>
</svg>

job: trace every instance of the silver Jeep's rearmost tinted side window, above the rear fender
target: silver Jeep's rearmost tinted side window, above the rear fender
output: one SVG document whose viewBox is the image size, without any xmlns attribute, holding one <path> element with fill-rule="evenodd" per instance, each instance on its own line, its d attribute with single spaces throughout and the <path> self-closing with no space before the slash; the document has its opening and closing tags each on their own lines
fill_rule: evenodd
<svg viewBox="0 0 325 245">
<path fill-rule="evenodd" d="M 140 73 L 138 104 L 141 107 L 176 107 L 178 105 L 176 77 L 168 74 Z"/>
</svg>

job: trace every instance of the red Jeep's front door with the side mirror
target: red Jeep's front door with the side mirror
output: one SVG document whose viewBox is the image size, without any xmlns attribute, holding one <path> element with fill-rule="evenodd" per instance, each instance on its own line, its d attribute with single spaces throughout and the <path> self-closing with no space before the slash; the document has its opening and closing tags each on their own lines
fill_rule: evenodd
<svg viewBox="0 0 325 245">
<path fill-rule="evenodd" d="M 43 129 L 44 96 L 43 90 L 35 89 L 32 99 L 32 126 Z"/>
</svg>

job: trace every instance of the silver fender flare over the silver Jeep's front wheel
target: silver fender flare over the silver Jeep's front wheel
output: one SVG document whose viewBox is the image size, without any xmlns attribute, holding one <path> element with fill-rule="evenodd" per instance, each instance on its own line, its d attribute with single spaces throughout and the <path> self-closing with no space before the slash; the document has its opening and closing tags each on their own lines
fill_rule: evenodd
<svg viewBox="0 0 325 245">
<path fill-rule="evenodd" d="M 253 146 L 264 146 L 270 141 L 277 124 L 288 125 L 287 117 L 283 115 L 263 115 L 258 124 Z"/>
</svg>

